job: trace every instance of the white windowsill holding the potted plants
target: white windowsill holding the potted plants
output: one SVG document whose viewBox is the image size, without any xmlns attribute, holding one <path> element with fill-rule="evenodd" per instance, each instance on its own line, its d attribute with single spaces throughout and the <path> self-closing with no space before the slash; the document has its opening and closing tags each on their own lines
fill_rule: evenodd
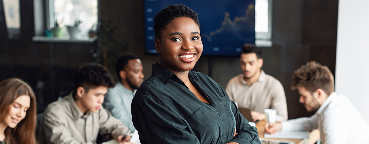
<svg viewBox="0 0 369 144">
<path fill-rule="evenodd" d="M 69 37 L 64 38 L 49 38 L 46 36 L 33 36 L 32 42 L 58 42 L 58 43 L 93 43 L 96 38 L 79 38 L 79 39 L 69 39 Z"/>
</svg>

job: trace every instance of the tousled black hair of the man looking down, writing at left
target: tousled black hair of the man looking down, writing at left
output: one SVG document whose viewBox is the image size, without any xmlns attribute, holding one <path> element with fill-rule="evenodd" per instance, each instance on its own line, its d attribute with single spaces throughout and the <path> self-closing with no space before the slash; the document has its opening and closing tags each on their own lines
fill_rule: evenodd
<svg viewBox="0 0 369 144">
<path fill-rule="evenodd" d="M 115 82 L 111 78 L 109 71 L 97 63 L 85 63 L 78 67 L 74 78 L 75 90 L 83 87 L 88 92 L 93 87 L 106 86 L 114 87 Z"/>
</svg>

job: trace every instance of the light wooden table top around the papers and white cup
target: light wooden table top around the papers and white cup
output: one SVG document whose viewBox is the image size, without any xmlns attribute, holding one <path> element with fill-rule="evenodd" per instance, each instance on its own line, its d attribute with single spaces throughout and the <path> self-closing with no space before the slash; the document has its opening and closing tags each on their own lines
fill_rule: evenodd
<svg viewBox="0 0 369 144">
<path fill-rule="evenodd" d="M 265 120 L 262 120 L 256 123 L 256 129 L 258 129 L 259 138 L 264 138 L 264 125 L 265 125 Z M 304 140 L 282 139 L 282 138 L 267 138 L 267 139 L 290 141 L 290 142 L 294 142 L 295 144 L 314 144 L 319 138 L 320 138 L 320 133 L 319 133 L 319 130 L 316 129 L 310 132 L 308 139 L 304 139 Z"/>
</svg>

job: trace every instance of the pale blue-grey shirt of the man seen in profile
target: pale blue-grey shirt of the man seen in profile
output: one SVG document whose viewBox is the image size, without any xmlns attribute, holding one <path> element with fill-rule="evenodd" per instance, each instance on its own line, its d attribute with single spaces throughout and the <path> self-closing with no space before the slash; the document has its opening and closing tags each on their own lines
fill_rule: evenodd
<svg viewBox="0 0 369 144">
<path fill-rule="evenodd" d="M 131 91 L 125 88 L 121 82 L 117 82 L 114 88 L 108 89 L 103 103 L 104 108 L 129 127 L 131 132 L 135 131 L 131 114 L 131 103 L 135 92 L 136 89 Z"/>
</svg>

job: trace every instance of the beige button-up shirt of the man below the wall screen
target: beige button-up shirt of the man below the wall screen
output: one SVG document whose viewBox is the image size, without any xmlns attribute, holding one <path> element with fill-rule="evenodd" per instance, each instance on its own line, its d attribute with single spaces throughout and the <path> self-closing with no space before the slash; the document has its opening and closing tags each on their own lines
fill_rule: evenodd
<svg viewBox="0 0 369 144">
<path fill-rule="evenodd" d="M 287 120 L 286 95 L 282 84 L 274 77 L 261 70 L 257 81 L 248 85 L 243 74 L 233 77 L 225 92 L 240 108 L 248 108 L 264 113 L 264 109 L 275 109 L 277 121 Z"/>
</svg>

